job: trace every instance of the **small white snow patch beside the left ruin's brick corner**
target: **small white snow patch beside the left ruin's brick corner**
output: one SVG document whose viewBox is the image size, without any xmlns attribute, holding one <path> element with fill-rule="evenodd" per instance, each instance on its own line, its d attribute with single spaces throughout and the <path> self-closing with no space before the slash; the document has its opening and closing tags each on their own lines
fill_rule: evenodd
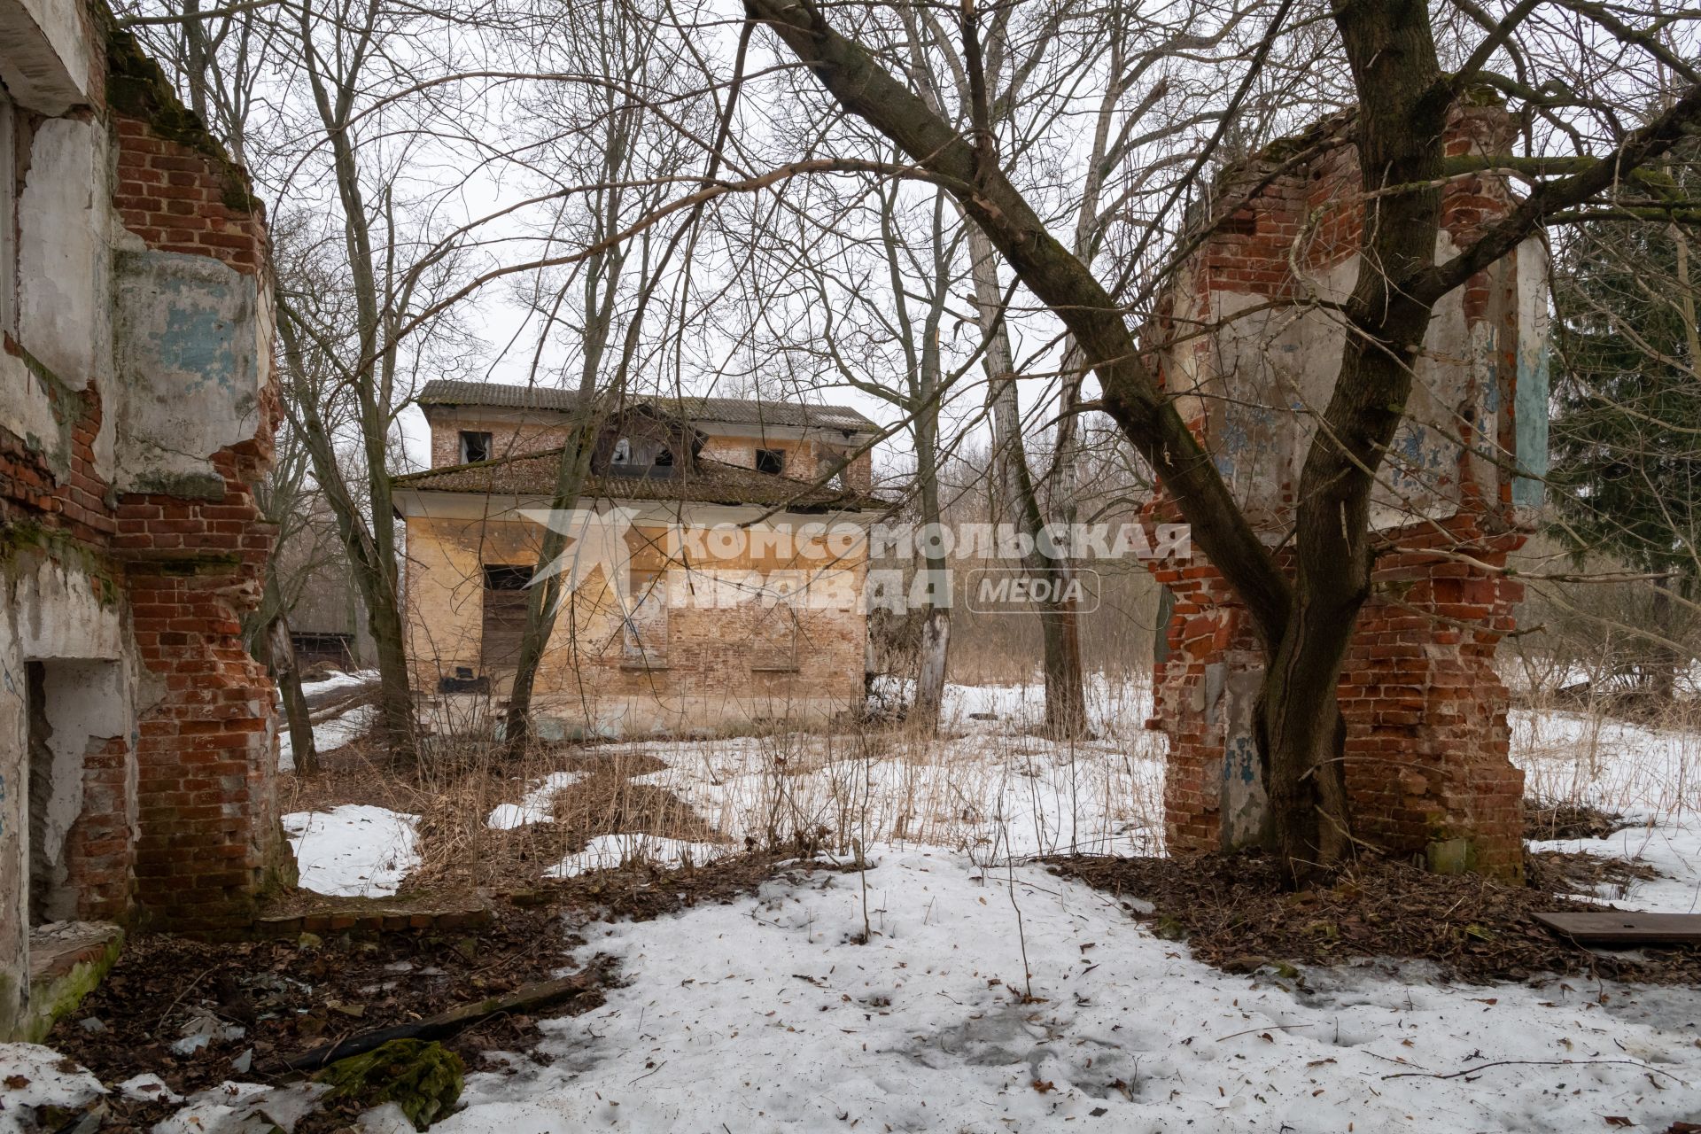
<svg viewBox="0 0 1701 1134">
<path fill-rule="evenodd" d="M 396 893 L 420 862 L 418 821 L 417 814 L 371 804 L 286 814 L 284 830 L 301 867 L 301 887 L 342 898 Z"/>
</svg>

